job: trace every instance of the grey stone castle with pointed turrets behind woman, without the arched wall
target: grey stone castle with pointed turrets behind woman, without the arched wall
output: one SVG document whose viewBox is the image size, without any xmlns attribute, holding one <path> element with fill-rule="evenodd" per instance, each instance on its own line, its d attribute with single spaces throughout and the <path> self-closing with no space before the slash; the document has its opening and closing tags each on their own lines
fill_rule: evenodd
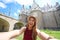
<svg viewBox="0 0 60 40">
<path fill-rule="evenodd" d="M 58 3 L 57 3 L 58 4 Z M 30 9 L 27 10 L 24 5 L 20 12 L 20 21 L 26 23 L 28 16 L 34 16 L 37 19 L 37 27 L 39 29 L 55 29 L 60 28 L 60 6 L 50 8 L 48 11 L 43 11 L 39 5 L 33 1 Z"/>
</svg>

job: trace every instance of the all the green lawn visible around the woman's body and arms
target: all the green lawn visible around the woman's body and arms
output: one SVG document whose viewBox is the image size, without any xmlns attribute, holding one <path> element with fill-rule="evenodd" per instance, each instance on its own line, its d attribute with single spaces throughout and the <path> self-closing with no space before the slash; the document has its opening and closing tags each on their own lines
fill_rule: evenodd
<svg viewBox="0 0 60 40">
<path fill-rule="evenodd" d="M 50 36 L 53 36 L 54 38 L 60 39 L 60 31 L 53 31 L 53 30 L 41 30 L 47 34 L 49 34 Z M 23 39 L 23 34 L 16 37 L 17 40 L 22 40 Z M 39 37 L 37 37 L 37 40 L 40 40 Z"/>
</svg>

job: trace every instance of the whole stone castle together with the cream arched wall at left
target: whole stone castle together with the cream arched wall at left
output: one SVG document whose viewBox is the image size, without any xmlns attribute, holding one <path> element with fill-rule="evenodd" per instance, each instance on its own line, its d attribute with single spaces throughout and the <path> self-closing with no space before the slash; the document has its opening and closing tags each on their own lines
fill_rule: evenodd
<svg viewBox="0 0 60 40">
<path fill-rule="evenodd" d="M 23 5 L 19 14 L 19 20 L 0 14 L 0 32 L 13 30 L 14 27 L 18 26 L 16 24 L 19 24 L 19 21 L 26 24 L 28 16 L 36 17 L 37 28 L 39 29 L 60 29 L 60 6 L 43 12 L 39 5 L 33 1 L 29 10 Z"/>
</svg>

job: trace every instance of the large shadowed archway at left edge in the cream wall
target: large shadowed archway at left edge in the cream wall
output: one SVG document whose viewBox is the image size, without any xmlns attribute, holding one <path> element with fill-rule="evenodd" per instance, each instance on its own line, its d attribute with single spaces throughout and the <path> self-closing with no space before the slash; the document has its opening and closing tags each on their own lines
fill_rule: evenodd
<svg viewBox="0 0 60 40">
<path fill-rule="evenodd" d="M 6 32 L 6 31 L 9 31 L 9 23 L 0 18 L 0 32 Z"/>
</svg>

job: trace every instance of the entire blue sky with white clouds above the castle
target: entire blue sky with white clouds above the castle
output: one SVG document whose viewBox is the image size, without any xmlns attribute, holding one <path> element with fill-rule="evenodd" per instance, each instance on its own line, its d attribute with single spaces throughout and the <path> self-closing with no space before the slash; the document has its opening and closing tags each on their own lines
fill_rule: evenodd
<svg viewBox="0 0 60 40">
<path fill-rule="evenodd" d="M 43 7 L 44 5 L 55 5 L 56 2 L 60 3 L 60 0 L 35 0 L 35 2 Z M 7 16 L 18 19 L 18 14 L 22 8 L 22 5 L 25 5 L 26 8 L 29 8 L 33 4 L 33 0 L 0 0 L 0 13 L 3 13 Z"/>
</svg>

